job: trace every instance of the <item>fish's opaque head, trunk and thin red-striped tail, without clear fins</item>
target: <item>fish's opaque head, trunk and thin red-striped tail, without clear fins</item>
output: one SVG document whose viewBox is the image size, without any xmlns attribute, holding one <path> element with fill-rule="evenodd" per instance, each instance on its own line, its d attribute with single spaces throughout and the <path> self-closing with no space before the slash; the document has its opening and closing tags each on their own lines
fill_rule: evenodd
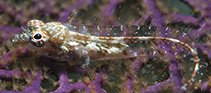
<svg viewBox="0 0 211 93">
<path fill-rule="evenodd" d="M 121 30 L 123 30 L 121 26 Z M 126 27 L 128 28 L 128 27 Z M 128 48 L 125 42 L 132 42 L 133 40 L 165 40 L 173 43 L 179 43 L 187 47 L 192 55 L 195 57 L 196 64 L 194 71 L 191 75 L 193 79 L 199 69 L 199 58 L 197 51 L 188 44 L 174 38 L 155 37 L 155 36 L 137 36 L 137 37 L 106 37 L 106 36 L 91 36 L 78 33 L 80 28 L 76 27 L 71 31 L 67 26 L 60 22 L 43 23 L 40 20 L 30 20 L 27 23 L 27 28 L 21 35 L 15 35 L 12 40 L 15 43 L 31 42 L 34 46 L 41 47 L 39 51 L 42 55 L 56 58 L 58 60 L 67 61 L 68 53 L 76 53 L 85 58 L 104 58 L 104 57 L 117 57 L 128 55 Z M 85 28 L 86 29 L 86 28 Z M 84 29 L 84 30 L 85 30 Z M 93 30 L 93 28 L 89 28 Z M 34 38 L 34 35 L 41 34 L 42 38 Z M 64 59 L 63 59 L 64 58 Z M 67 58 L 67 59 L 66 59 Z M 188 80 L 188 83 L 191 81 Z"/>
</svg>

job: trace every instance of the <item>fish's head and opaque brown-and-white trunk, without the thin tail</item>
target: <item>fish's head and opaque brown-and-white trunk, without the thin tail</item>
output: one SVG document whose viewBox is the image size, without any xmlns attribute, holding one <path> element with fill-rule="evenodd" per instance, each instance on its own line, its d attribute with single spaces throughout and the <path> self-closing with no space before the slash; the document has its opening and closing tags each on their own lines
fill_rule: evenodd
<svg viewBox="0 0 211 93">
<path fill-rule="evenodd" d="M 13 42 L 27 44 L 41 55 L 67 61 L 72 54 L 85 58 L 124 56 L 123 51 L 129 46 L 123 40 L 81 34 L 60 22 L 30 20 L 26 29 L 14 36 Z"/>
</svg>

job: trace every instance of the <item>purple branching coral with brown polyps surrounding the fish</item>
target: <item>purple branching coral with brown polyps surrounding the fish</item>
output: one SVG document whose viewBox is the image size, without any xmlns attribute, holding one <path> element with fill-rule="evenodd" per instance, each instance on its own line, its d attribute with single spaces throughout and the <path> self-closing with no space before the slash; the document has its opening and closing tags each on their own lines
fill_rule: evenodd
<svg viewBox="0 0 211 93">
<path fill-rule="evenodd" d="M 211 58 L 211 2 L 209 0 L 201 0 L 200 2 L 198 0 L 184 0 L 184 2 L 191 6 L 193 12 L 198 13 L 200 17 L 166 12 L 162 10 L 165 6 L 159 5 L 162 2 L 156 0 L 134 2 L 119 0 L 79 0 L 75 2 L 32 0 L 21 3 L 0 1 L 0 18 L 4 19 L 0 21 L 0 50 L 2 51 L 0 91 L 2 93 L 211 92 L 210 80 L 208 79 Z M 23 4 L 28 5 L 28 8 Z M 129 9 L 125 9 L 125 6 L 128 6 Z M 195 27 L 187 30 L 187 36 L 171 34 L 172 29 L 157 31 L 161 33 L 160 36 L 166 36 L 165 33 L 168 33 L 167 37 L 177 38 L 197 49 L 201 60 L 199 74 L 194 77 L 194 82 L 184 86 L 192 74 L 188 68 L 194 68 L 194 64 L 189 66 L 189 63 L 185 63 L 187 59 L 173 54 L 175 51 L 182 52 L 184 46 L 166 42 L 158 42 L 154 46 L 156 49 L 153 51 L 160 54 L 133 51 L 142 56 L 126 61 L 124 59 L 93 61 L 87 68 L 82 68 L 78 64 L 79 62 L 59 62 L 39 56 L 28 50 L 27 47 L 23 48 L 10 42 L 12 34 L 21 31 L 20 26 L 12 26 L 24 26 L 28 20 L 33 18 L 43 21 L 65 22 L 73 9 L 79 12 L 77 21 L 74 21 L 76 24 L 166 27 L 176 23 Z M 127 13 L 134 15 L 124 17 Z M 176 28 L 174 25 L 171 26 L 171 28 L 174 27 Z M 190 39 L 188 36 L 192 38 Z M 179 48 L 175 49 L 173 46 Z M 5 51 L 5 47 L 8 47 L 10 51 Z M 171 50 L 174 52 L 162 54 L 164 51 Z M 184 51 L 188 52 L 189 50 Z"/>
</svg>

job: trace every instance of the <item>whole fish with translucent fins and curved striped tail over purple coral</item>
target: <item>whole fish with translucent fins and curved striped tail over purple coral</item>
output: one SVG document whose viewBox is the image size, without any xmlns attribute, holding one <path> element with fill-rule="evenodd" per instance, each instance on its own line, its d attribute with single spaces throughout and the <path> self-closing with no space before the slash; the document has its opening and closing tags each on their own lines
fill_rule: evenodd
<svg viewBox="0 0 211 93">
<path fill-rule="evenodd" d="M 186 43 L 180 40 L 185 40 Z M 196 49 L 190 46 L 194 46 L 191 37 L 168 27 L 73 26 L 69 23 L 30 20 L 27 28 L 14 36 L 13 42 L 24 44 L 40 55 L 60 61 L 68 61 L 76 55 L 86 59 L 159 55 L 162 54 L 160 48 L 164 54 L 170 52 L 176 56 L 186 52 L 183 56 L 192 55 L 196 64 L 191 79 L 199 69 Z M 161 46 L 162 44 L 165 46 Z M 178 48 L 178 44 L 182 48 Z"/>
</svg>

